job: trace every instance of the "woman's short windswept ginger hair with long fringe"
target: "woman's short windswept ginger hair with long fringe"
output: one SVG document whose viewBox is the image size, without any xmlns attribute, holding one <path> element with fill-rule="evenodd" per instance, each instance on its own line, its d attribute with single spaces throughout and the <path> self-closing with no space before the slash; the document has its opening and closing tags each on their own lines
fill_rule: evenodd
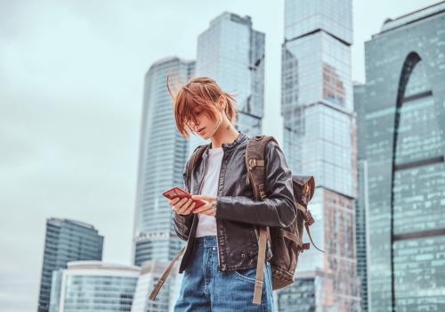
<svg viewBox="0 0 445 312">
<path fill-rule="evenodd" d="M 224 92 L 212 78 L 191 78 L 185 85 L 177 88 L 177 91 L 173 91 L 169 85 L 169 76 L 167 75 L 166 87 L 172 97 L 176 127 L 183 137 L 188 137 L 192 131 L 190 122 L 197 122 L 194 115 L 197 109 L 216 121 L 218 113 L 216 103 L 220 97 L 223 97 L 226 102 L 225 114 L 231 123 L 233 124 L 237 118 L 234 95 Z"/>
</svg>

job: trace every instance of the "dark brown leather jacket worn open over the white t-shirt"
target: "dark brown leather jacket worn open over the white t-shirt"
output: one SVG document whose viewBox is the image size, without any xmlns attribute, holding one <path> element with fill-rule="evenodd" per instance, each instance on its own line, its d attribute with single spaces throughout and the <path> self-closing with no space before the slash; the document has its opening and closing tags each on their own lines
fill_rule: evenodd
<svg viewBox="0 0 445 312">
<path fill-rule="evenodd" d="M 257 226 L 289 226 L 295 215 L 292 173 L 279 145 L 270 142 L 265 147 L 265 178 L 267 198 L 252 200 L 252 185 L 247 184 L 244 159 L 250 137 L 243 132 L 229 144 L 223 144 L 223 162 L 217 191 L 216 236 L 218 243 L 218 269 L 233 271 L 256 267 L 258 253 Z M 208 148 L 198 160 L 190 179 L 192 194 L 198 194 L 206 174 Z M 185 183 L 185 171 L 182 174 Z M 187 242 L 179 272 L 187 267 L 193 250 L 198 215 L 180 215 L 174 212 L 174 230 Z M 271 259 L 271 247 L 266 246 L 266 260 Z"/>
</svg>

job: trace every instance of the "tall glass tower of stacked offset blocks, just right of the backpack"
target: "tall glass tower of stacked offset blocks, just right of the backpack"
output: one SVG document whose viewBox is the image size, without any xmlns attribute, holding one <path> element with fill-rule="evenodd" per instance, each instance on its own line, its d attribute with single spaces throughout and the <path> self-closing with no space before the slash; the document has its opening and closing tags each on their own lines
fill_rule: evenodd
<svg viewBox="0 0 445 312">
<path fill-rule="evenodd" d="M 351 45 L 351 0 L 286 0 L 283 150 L 294 174 L 315 177 L 312 236 L 326 252 L 300 256 L 295 284 L 278 292 L 279 311 L 360 310 Z"/>
</svg>

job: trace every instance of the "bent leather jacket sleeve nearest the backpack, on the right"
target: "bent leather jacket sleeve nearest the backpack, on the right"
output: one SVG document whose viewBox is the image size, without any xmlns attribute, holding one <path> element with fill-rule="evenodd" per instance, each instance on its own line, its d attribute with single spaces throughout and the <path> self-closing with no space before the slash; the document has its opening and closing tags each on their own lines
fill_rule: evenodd
<svg viewBox="0 0 445 312">
<path fill-rule="evenodd" d="M 292 172 L 279 145 L 265 147 L 265 187 L 267 197 L 252 200 L 247 196 L 218 196 L 215 218 L 258 226 L 287 227 L 296 218 Z"/>
</svg>

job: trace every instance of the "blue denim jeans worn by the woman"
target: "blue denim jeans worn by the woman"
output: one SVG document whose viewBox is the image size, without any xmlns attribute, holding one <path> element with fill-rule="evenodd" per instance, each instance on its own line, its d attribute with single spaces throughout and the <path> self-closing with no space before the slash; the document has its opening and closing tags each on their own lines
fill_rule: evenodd
<svg viewBox="0 0 445 312">
<path fill-rule="evenodd" d="M 252 303 L 256 267 L 218 271 L 216 236 L 195 239 L 193 261 L 185 267 L 174 312 L 273 311 L 271 264 L 265 263 L 261 305 Z"/>
</svg>

